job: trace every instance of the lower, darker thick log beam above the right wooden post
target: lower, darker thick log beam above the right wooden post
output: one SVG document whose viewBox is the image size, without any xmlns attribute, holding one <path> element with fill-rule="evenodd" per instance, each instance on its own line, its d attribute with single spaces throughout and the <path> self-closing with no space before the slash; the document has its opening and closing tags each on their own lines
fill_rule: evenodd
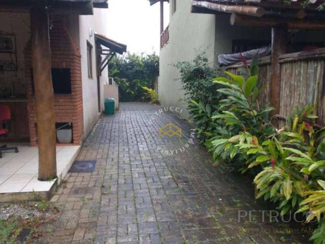
<svg viewBox="0 0 325 244">
<path fill-rule="evenodd" d="M 239 26 L 268 26 L 275 27 L 285 23 L 289 29 L 325 29 L 325 21 L 310 20 L 310 19 L 293 19 L 264 16 L 261 18 L 247 15 L 232 14 L 230 17 L 231 25 Z"/>
</svg>

